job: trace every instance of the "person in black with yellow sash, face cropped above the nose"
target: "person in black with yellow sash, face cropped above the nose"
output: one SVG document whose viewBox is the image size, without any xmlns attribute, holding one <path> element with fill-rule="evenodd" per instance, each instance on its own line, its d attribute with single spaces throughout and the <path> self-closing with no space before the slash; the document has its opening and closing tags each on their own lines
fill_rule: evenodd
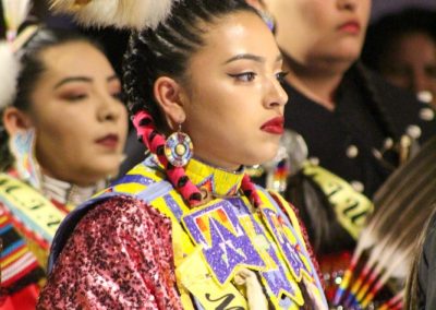
<svg viewBox="0 0 436 310">
<path fill-rule="evenodd" d="M 371 200 L 436 134 L 435 115 L 359 61 L 371 0 L 247 2 L 272 21 L 289 71 L 286 127 L 301 135 L 295 145 L 306 144 L 300 147 L 306 156 L 299 155 L 305 163 L 290 167 L 295 175 L 282 190 L 307 225 L 325 279 L 336 286 L 373 210 Z M 327 295 L 332 301 L 335 293 Z"/>
</svg>

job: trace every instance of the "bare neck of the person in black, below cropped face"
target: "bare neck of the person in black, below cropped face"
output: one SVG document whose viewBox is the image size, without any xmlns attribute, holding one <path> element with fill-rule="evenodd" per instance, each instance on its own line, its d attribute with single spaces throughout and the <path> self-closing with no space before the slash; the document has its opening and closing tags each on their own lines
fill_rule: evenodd
<svg viewBox="0 0 436 310">
<path fill-rule="evenodd" d="M 286 71 L 289 71 L 286 78 L 288 83 L 326 109 L 335 109 L 335 96 L 344 70 L 303 67 L 289 58 L 286 59 L 283 67 Z"/>
</svg>

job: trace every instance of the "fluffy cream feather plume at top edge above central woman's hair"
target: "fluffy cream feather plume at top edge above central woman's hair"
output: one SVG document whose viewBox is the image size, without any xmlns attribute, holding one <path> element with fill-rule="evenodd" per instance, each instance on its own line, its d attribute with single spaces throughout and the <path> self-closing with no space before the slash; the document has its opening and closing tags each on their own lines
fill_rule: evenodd
<svg viewBox="0 0 436 310">
<path fill-rule="evenodd" d="M 117 28 L 156 28 L 179 0 L 50 0 L 51 9 L 73 13 L 89 26 Z"/>
</svg>

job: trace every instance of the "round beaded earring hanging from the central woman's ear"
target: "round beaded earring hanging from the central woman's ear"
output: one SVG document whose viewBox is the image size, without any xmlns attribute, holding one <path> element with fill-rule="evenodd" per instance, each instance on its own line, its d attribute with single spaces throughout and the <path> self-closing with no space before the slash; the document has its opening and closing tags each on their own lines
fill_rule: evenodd
<svg viewBox="0 0 436 310">
<path fill-rule="evenodd" d="M 168 136 L 165 143 L 165 156 L 175 167 L 185 166 L 194 154 L 193 150 L 191 138 L 182 132 L 181 124 L 179 124 L 179 130 Z"/>
</svg>

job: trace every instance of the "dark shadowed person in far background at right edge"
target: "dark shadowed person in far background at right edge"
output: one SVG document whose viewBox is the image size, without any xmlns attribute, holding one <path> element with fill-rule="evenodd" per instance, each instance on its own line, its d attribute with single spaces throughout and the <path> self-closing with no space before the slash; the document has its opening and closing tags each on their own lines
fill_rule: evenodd
<svg viewBox="0 0 436 310">
<path fill-rule="evenodd" d="M 436 107 L 436 12 L 404 9 L 370 26 L 363 62 Z"/>
</svg>

